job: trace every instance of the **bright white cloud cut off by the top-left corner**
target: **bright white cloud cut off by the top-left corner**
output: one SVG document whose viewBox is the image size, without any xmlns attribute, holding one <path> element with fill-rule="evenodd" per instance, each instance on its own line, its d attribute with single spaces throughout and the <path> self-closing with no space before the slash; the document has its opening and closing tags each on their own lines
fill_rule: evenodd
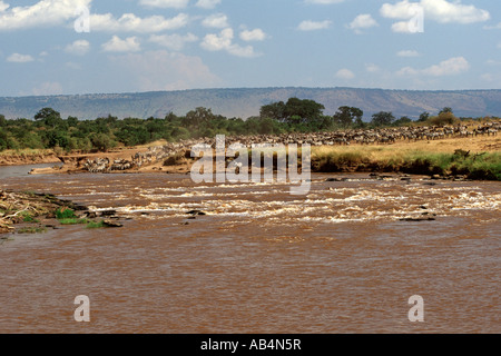
<svg viewBox="0 0 501 356">
<path fill-rule="evenodd" d="M 0 1 L 0 31 L 53 27 L 78 17 L 76 9 L 92 0 L 40 0 L 32 6 L 10 8 Z"/>
</svg>

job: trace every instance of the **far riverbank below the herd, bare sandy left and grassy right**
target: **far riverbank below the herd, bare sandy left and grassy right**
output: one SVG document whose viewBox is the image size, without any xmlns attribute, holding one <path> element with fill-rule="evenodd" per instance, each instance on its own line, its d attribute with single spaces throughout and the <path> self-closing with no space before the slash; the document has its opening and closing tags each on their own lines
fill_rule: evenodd
<svg viewBox="0 0 501 356">
<path fill-rule="evenodd" d="M 155 151 L 157 146 L 136 147 L 110 152 L 59 156 L 61 167 L 35 169 L 32 175 L 88 172 L 85 161 L 106 158 L 132 159 Z M 111 174 L 189 174 L 194 159 L 189 150 L 167 158 L 143 161 L 139 167 Z M 301 162 L 301 160 L 299 160 Z M 312 147 L 313 172 L 401 172 L 473 180 L 501 180 L 501 138 L 498 136 L 454 137 L 441 140 L 399 140 L 394 144 L 334 145 Z"/>
</svg>

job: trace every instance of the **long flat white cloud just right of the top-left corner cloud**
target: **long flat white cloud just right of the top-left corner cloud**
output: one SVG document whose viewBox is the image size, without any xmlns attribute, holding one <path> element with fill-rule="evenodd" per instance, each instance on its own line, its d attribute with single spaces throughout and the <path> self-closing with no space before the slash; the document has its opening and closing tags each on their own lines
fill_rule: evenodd
<svg viewBox="0 0 501 356">
<path fill-rule="evenodd" d="M 179 13 L 170 19 L 166 19 L 163 16 L 139 18 L 134 13 L 125 13 L 119 19 L 114 18 L 111 13 L 90 16 L 91 30 L 106 32 L 153 33 L 179 29 L 187 23 L 188 16 L 186 13 Z"/>
</svg>

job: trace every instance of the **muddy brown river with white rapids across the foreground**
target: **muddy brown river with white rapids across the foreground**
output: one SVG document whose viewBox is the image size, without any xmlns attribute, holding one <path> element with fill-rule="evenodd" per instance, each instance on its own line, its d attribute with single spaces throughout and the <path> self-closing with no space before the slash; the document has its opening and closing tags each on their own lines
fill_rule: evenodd
<svg viewBox="0 0 501 356">
<path fill-rule="evenodd" d="M 124 227 L 3 241 L 0 333 L 500 333 L 501 184 L 367 177 L 313 175 L 292 196 L 186 175 L 3 174 L 0 188 L 116 209 Z M 90 323 L 73 318 L 79 295 Z"/>
</svg>

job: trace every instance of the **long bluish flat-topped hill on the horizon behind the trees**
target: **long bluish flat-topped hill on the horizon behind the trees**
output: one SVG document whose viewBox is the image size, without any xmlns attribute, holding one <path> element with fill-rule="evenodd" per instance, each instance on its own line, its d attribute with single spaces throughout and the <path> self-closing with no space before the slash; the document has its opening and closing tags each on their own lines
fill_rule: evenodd
<svg viewBox="0 0 501 356">
<path fill-rule="evenodd" d="M 76 96 L 0 98 L 0 113 L 8 119 L 29 118 L 51 107 L 63 118 L 96 119 L 109 113 L 122 119 L 164 118 L 168 112 L 183 116 L 197 107 L 210 108 L 227 118 L 258 116 L 259 108 L 288 98 L 312 99 L 333 115 L 341 106 L 357 107 L 364 119 L 372 113 L 392 111 L 395 117 L 418 118 L 421 112 L 438 113 L 451 107 L 456 116 L 501 116 L 501 90 L 416 91 L 356 88 L 235 88 L 153 91 L 137 93 L 94 93 Z"/>
</svg>

